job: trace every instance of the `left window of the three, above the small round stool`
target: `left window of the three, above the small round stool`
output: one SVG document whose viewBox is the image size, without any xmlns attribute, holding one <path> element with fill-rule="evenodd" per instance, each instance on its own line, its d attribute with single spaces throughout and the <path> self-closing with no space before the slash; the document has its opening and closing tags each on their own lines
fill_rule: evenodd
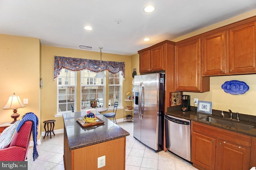
<svg viewBox="0 0 256 170">
<path fill-rule="evenodd" d="M 65 85 L 62 85 L 62 80 L 65 80 Z M 76 72 L 72 72 L 62 68 L 58 76 L 58 106 L 57 113 L 71 111 L 70 105 L 76 107 Z"/>
</svg>

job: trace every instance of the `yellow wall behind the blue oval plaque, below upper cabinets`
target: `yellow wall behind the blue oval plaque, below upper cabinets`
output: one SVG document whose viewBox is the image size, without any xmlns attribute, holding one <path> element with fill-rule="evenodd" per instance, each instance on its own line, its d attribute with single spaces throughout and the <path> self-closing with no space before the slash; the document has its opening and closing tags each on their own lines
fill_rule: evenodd
<svg viewBox="0 0 256 170">
<path fill-rule="evenodd" d="M 228 94 L 222 90 L 221 85 L 230 80 L 246 82 L 250 89 L 245 94 Z M 194 98 L 198 98 L 198 100 L 212 102 L 212 108 L 216 110 L 228 111 L 228 109 L 231 109 L 233 112 L 238 111 L 239 113 L 256 116 L 256 74 L 210 77 L 210 92 L 184 92 L 184 94 L 190 95 L 191 106 L 194 104 Z"/>
</svg>

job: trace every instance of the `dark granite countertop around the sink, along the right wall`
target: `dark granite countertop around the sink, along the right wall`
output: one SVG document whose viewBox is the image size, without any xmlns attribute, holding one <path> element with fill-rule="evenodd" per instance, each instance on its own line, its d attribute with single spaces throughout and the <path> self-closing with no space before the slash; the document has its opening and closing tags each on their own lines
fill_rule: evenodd
<svg viewBox="0 0 256 170">
<path fill-rule="evenodd" d="M 197 112 L 194 109 L 194 107 L 192 107 L 191 111 L 181 111 L 181 109 L 179 109 L 179 110 L 177 110 L 177 109 L 176 110 L 175 109 L 174 110 L 170 110 L 169 109 L 166 112 L 166 115 L 172 115 L 172 116 L 175 116 L 175 117 L 179 117 L 179 118 L 183 118 L 183 119 L 188 119 L 188 120 L 191 120 L 191 121 L 196 121 L 196 122 L 203 123 L 203 124 L 206 124 L 206 125 L 211 125 L 211 126 L 214 126 L 214 127 L 219 127 L 221 129 L 226 129 L 228 131 L 233 131 L 233 132 L 241 133 L 241 134 L 244 134 L 244 135 L 249 135 L 249 136 L 252 136 L 252 137 L 256 137 L 256 121 L 255 121 L 256 116 L 239 114 L 239 117 L 240 117 L 239 123 L 246 123 L 246 124 L 255 125 L 250 130 L 244 130 L 244 129 L 234 128 L 234 127 L 226 128 L 226 127 L 224 127 L 221 124 L 213 123 L 213 122 L 208 122 L 208 121 L 202 121 L 202 120 L 199 119 L 202 116 L 211 116 L 211 117 L 214 117 L 214 118 L 217 118 L 217 119 L 223 119 L 221 117 L 221 114 L 220 114 L 221 111 L 218 111 L 218 112 L 219 113 L 216 114 L 216 110 L 215 110 L 215 111 L 213 111 L 212 115 L 204 114 L 204 113 Z M 243 119 L 241 119 L 241 118 L 243 118 Z M 234 119 L 236 119 L 236 117 Z M 228 121 L 228 119 L 227 119 L 227 121 Z"/>
</svg>

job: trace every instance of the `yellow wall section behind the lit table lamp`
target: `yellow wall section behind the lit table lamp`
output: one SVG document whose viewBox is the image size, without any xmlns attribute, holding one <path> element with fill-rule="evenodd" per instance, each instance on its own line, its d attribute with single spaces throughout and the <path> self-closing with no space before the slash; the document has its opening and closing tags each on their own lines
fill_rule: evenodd
<svg viewBox="0 0 256 170">
<path fill-rule="evenodd" d="M 0 34 L 0 57 L 0 108 L 15 92 L 22 102 L 28 98 L 26 107 L 18 109 L 18 119 L 34 112 L 40 122 L 40 39 Z M 12 113 L 12 109 L 1 109 L 0 122 L 12 121 Z M 41 132 L 40 126 L 38 132 Z"/>
</svg>

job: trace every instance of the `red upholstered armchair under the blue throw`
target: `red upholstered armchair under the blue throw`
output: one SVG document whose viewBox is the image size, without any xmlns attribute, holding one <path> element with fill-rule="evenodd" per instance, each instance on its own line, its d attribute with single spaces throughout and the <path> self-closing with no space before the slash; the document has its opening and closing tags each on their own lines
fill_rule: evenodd
<svg viewBox="0 0 256 170">
<path fill-rule="evenodd" d="M 32 132 L 32 121 L 26 121 L 20 131 L 15 131 L 10 146 L 0 149 L 0 161 L 24 161 L 28 154 Z"/>
</svg>

